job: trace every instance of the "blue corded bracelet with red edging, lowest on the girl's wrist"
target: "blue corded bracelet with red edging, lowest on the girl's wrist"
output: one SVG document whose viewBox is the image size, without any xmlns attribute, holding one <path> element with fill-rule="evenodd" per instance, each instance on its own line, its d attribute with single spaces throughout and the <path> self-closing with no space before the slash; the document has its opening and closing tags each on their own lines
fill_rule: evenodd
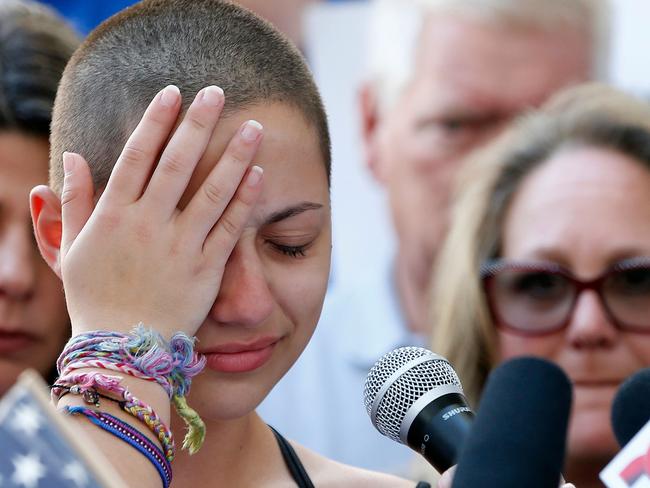
<svg viewBox="0 0 650 488">
<path fill-rule="evenodd" d="M 151 440 L 131 425 L 105 412 L 91 410 L 85 407 L 64 407 L 62 409 L 69 415 L 83 415 L 93 424 L 122 439 L 127 444 L 143 454 L 160 476 L 163 488 L 168 488 L 172 481 L 171 465 L 165 459 L 162 451 Z"/>
</svg>

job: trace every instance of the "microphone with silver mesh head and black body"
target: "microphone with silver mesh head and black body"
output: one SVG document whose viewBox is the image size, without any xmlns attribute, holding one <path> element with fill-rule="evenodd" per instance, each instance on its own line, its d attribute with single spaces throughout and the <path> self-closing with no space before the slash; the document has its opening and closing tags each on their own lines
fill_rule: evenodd
<svg viewBox="0 0 650 488">
<path fill-rule="evenodd" d="M 439 472 L 456 463 L 473 412 L 449 362 L 421 347 L 401 347 L 375 363 L 364 386 L 375 428 L 419 452 Z"/>
</svg>

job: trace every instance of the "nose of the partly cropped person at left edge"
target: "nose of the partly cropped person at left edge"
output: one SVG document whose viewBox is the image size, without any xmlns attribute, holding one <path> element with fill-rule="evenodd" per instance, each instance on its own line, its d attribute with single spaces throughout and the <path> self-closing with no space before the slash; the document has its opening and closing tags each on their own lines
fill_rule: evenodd
<svg viewBox="0 0 650 488">
<path fill-rule="evenodd" d="M 10 225 L 0 234 L 0 297 L 28 299 L 35 283 L 35 246 L 31 228 Z"/>
</svg>

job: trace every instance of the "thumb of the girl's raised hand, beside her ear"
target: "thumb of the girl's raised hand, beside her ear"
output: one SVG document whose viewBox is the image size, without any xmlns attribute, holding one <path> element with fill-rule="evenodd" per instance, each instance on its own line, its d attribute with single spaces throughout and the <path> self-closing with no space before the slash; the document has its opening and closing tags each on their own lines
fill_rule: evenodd
<svg viewBox="0 0 650 488">
<path fill-rule="evenodd" d="M 63 153 L 63 190 L 61 217 L 63 234 L 61 258 L 77 238 L 93 211 L 93 181 L 84 158 L 75 153 Z"/>
</svg>

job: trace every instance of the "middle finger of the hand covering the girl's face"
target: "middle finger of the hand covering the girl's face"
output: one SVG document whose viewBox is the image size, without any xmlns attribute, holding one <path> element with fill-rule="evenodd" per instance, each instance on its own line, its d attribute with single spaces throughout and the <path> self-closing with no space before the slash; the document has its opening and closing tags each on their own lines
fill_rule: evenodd
<svg viewBox="0 0 650 488">
<path fill-rule="evenodd" d="M 163 151 L 143 200 L 156 211 L 171 215 L 178 205 L 194 168 L 203 156 L 224 105 L 223 90 L 200 90 L 183 121 Z"/>
</svg>

